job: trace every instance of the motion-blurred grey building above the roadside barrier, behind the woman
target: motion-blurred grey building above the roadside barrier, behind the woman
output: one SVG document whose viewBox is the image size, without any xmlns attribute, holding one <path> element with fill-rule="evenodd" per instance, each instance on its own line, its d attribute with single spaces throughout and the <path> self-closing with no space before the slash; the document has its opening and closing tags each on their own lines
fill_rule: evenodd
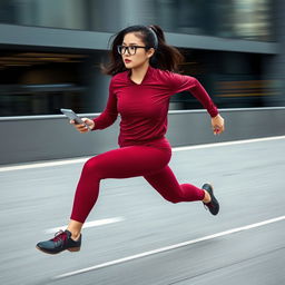
<svg viewBox="0 0 285 285">
<path fill-rule="evenodd" d="M 159 24 L 220 108 L 285 106 L 282 0 L 1 0 L 0 116 L 99 112 L 110 37 Z M 170 108 L 200 108 L 179 94 Z"/>
</svg>

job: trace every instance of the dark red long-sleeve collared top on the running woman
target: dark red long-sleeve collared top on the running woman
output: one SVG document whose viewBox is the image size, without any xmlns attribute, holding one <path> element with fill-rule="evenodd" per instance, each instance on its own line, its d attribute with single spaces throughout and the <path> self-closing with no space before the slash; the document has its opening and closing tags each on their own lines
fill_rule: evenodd
<svg viewBox="0 0 285 285">
<path fill-rule="evenodd" d="M 129 71 L 124 71 L 112 77 L 106 109 L 94 119 L 95 130 L 105 129 L 120 115 L 120 147 L 164 138 L 170 96 L 177 92 L 190 91 L 212 117 L 218 115 L 213 100 L 194 77 L 149 67 L 138 85 L 129 75 Z"/>
</svg>

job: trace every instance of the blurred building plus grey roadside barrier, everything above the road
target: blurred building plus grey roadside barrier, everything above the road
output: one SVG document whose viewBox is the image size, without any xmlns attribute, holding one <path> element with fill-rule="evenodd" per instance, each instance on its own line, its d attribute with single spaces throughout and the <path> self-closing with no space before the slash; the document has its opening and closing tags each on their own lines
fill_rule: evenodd
<svg viewBox="0 0 285 285">
<path fill-rule="evenodd" d="M 226 132 L 214 139 L 199 101 L 175 95 L 173 146 L 284 135 L 284 11 L 283 0 L 1 0 L 0 164 L 117 147 L 117 122 L 79 136 L 59 109 L 104 110 L 110 77 L 100 65 L 111 37 L 130 24 L 159 24 L 186 58 L 180 69 L 225 116 Z"/>
</svg>

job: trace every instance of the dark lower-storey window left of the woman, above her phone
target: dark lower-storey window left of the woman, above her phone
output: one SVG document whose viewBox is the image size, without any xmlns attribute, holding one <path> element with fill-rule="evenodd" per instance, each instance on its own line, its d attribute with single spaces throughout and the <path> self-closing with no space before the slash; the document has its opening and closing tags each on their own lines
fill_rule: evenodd
<svg viewBox="0 0 285 285">
<path fill-rule="evenodd" d="M 0 116 L 59 114 L 61 106 L 87 109 L 87 55 L 0 52 Z"/>
</svg>

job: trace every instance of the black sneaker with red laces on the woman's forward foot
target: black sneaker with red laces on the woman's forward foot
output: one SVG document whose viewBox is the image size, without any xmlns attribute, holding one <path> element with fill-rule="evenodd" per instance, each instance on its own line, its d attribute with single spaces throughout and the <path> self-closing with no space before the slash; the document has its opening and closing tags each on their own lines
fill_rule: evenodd
<svg viewBox="0 0 285 285">
<path fill-rule="evenodd" d="M 73 240 L 69 230 L 60 230 L 52 239 L 37 244 L 37 248 L 46 254 L 59 254 L 66 249 L 69 252 L 79 252 L 80 246 L 81 235 L 78 240 Z"/>
</svg>

